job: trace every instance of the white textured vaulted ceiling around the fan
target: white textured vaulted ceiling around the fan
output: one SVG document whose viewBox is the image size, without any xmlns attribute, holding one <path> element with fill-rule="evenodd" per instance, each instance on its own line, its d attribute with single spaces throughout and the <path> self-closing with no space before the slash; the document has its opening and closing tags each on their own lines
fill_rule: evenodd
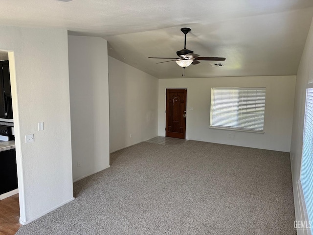
<svg viewBox="0 0 313 235">
<path fill-rule="evenodd" d="M 295 75 L 313 17 L 312 0 L 1 0 L 0 24 L 62 27 L 101 36 L 109 55 L 158 78 L 181 77 L 175 57 L 186 47 L 226 57 L 191 65 L 185 77 Z"/>
</svg>

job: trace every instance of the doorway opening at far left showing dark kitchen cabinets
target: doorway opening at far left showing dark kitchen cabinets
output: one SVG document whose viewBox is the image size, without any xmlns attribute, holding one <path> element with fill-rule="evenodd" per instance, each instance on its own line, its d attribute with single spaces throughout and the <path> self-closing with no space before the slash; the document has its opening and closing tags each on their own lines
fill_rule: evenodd
<svg viewBox="0 0 313 235">
<path fill-rule="evenodd" d="M 15 234 L 22 226 L 19 223 L 22 187 L 20 192 L 18 188 L 18 169 L 21 167 L 17 167 L 20 162 L 17 163 L 15 149 L 15 136 L 16 134 L 19 136 L 20 133 L 18 125 L 15 125 L 17 124 L 16 79 L 15 72 L 10 73 L 15 71 L 14 66 L 13 52 L 0 50 L 0 176 L 2 181 L 0 211 L 3 211 L 0 213 L 2 221 L 0 233 L 4 231 L 9 235 Z"/>
</svg>

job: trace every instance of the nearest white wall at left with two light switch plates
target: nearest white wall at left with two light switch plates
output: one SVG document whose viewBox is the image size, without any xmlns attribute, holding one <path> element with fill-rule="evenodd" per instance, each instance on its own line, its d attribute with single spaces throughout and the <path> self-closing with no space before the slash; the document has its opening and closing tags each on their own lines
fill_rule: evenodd
<svg viewBox="0 0 313 235">
<path fill-rule="evenodd" d="M 0 50 L 9 51 L 25 224 L 73 199 L 67 31 L 0 26 L 0 42 Z M 45 130 L 38 131 L 42 121 Z M 35 141 L 26 144 L 27 134 Z"/>
</svg>

